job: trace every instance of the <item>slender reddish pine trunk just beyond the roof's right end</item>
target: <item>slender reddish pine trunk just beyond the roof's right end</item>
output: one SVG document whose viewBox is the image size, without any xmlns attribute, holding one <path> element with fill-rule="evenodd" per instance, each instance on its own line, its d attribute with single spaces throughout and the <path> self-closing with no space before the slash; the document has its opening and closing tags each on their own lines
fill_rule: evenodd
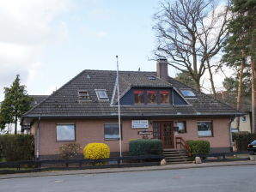
<svg viewBox="0 0 256 192">
<path fill-rule="evenodd" d="M 241 62 L 241 68 L 239 73 L 239 85 L 237 91 L 237 99 L 236 99 L 236 109 L 241 110 L 241 93 L 242 93 L 242 78 L 243 78 L 243 70 L 245 67 L 244 61 Z M 240 127 L 240 117 L 236 117 L 236 129 Z"/>
</svg>

